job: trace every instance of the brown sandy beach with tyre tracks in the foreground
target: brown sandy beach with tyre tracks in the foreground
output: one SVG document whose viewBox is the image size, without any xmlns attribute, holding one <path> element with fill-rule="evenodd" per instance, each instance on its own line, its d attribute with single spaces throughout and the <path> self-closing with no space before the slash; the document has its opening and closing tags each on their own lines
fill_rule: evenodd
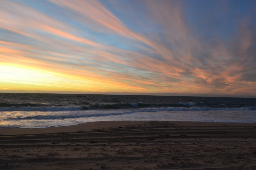
<svg viewBox="0 0 256 170">
<path fill-rule="evenodd" d="M 109 121 L 0 134 L 0 169 L 256 169 L 256 123 Z"/>
</svg>

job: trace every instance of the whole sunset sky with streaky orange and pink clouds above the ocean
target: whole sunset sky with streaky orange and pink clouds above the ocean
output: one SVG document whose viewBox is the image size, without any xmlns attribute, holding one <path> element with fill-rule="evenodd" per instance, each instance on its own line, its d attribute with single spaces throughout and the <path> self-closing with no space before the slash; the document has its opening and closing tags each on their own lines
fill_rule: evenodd
<svg viewBox="0 0 256 170">
<path fill-rule="evenodd" d="M 254 0 L 0 3 L 0 92 L 256 97 Z"/>
</svg>

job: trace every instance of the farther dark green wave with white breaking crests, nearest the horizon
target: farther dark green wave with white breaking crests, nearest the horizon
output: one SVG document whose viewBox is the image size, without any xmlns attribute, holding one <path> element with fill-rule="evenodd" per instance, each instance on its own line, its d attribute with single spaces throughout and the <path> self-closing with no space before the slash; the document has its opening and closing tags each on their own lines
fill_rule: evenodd
<svg viewBox="0 0 256 170">
<path fill-rule="evenodd" d="M 1 107 L 2 106 L 2 107 Z M 4 106 L 4 107 L 3 107 Z M 182 107 L 180 107 L 182 106 Z M 192 107 L 191 107 L 192 106 Z M 132 108 L 180 108 L 182 110 L 186 109 L 197 109 L 199 110 L 229 110 L 232 108 L 251 108 L 254 110 L 255 106 L 239 106 L 239 105 L 226 105 L 226 104 L 205 104 L 205 103 L 194 103 L 194 102 L 179 102 L 171 104 L 148 104 L 148 103 L 117 103 L 117 104 L 95 104 L 88 106 L 49 106 L 41 103 L 20 103 L 20 104 L 11 104 L 11 103 L 0 103 L 0 111 L 72 111 L 72 110 L 99 110 L 99 109 L 132 109 Z M 167 109 L 168 110 L 168 109 Z M 198 109 L 197 109 L 198 110 Z"/>
</svg>

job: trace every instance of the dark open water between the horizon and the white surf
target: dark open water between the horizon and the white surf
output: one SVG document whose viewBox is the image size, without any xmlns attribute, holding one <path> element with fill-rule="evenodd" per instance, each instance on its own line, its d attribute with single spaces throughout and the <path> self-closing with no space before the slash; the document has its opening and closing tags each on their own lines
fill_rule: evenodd
<svg viewBox="0 0 256 170">
<path fill-rule="evenodd" d="M 134 107 L 191 107 L 256 109 L 256 98 L 140 96 L 93 94 L 0 93 L 0 111 L 34 110 L 42 107 L 82 107 L 88 109 L 126 109 Z M 56 110 L 57 111 L 57 110 Z"/>
</svg>

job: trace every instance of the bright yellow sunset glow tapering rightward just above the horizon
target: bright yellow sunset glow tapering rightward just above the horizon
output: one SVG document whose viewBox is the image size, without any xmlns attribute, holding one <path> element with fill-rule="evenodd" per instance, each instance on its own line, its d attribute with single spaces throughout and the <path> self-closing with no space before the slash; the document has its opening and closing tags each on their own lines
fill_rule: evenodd
<svg viewBox="0 0 256 170">
<path fill-rule="evenodd" d="M 142 87 L 101 79 L 101 77 L 74 74 L 69 71 L 72 70 L 66 70 L 66 72 L 63 72 L 63 70 L 62 72 L 54 70 L 51 72 L 45 71 L 42 68 L 34 68 L 29 65 L 23 66 L 13 63 L 0 62 L 0 90 L 10 89 L 95 92 L 144 90 Z M 76 71 L 79 72 L 79 70 Z M 74 72 L 74 70 L 72 72 Z"/>
</svg>

